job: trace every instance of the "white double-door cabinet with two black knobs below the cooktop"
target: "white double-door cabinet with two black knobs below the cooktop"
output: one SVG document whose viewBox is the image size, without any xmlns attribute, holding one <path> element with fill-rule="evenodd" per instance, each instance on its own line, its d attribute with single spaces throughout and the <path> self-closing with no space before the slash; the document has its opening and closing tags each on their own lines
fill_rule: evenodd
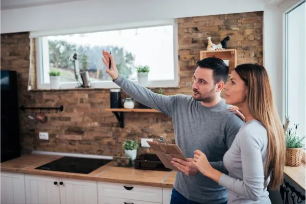
<svg viewBox="0 0 306 204">
<path fill-rule="evenodd" d="M 25 175 L 25 199 L 31 204 L 97 203 L 95 181 Z"/>
</svg>

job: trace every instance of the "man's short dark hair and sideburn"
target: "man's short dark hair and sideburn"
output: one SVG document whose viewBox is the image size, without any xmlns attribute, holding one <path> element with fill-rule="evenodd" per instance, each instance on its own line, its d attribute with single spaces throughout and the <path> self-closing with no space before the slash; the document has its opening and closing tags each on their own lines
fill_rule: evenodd
<svg viewBox="0 0 306 204">
<path fill-rule="evenodd" d="M 228 78 L 228 66 L 223 60 L 215 57 L 204 58 L 196 62 L 200 68 L 208 68 L 213 70 L 214 82 L 217 84 L 223 81 L 224 84 Z"/>
</svg>

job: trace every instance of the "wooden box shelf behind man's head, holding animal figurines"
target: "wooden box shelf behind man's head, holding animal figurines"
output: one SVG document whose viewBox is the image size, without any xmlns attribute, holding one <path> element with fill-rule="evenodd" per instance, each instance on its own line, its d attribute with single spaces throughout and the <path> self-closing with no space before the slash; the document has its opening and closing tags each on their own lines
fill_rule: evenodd
<svg viewBox="0 0 306 204">
<path fill-rule="evenodd" d="M 201 50 L 200 59 L 207 57 L 216 57 L 222 60 L 229 60 L 228 67 L 230 67 L 229 73 L 231 73 L 237 66 L 237 50 L 236 49 L 221 49 L 221 50 Z"/>
</svg>

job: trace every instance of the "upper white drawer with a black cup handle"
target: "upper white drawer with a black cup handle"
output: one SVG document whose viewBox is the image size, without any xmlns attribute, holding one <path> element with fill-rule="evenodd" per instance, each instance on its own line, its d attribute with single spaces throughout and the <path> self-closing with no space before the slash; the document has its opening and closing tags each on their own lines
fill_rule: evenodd
<svg viewBox="0 0 306 204">
<path fill-rule="evenodd" d="M 162 188 L 119 184 L 111 182 L 98 182 L 98 196 L 162 202 Z M 122 203 L 123 204 L 123 203 Z"/>
</svg>

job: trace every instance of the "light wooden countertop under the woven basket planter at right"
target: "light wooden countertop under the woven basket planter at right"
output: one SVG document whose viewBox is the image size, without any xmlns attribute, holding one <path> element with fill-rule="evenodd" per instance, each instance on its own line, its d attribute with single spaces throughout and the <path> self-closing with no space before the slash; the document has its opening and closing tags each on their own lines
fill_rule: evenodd
<svg viewBox="0 0 306 204">
<path fill-rule="evenodd" d="M 305 190 L 305 171 L 306 168 L 304 162 L 301 162 L 301 165 L 297 167 L 285 166 L 284 169 L 285 175 L 287 175 L 294 184 L 303 190 Z"/>
</svg>

